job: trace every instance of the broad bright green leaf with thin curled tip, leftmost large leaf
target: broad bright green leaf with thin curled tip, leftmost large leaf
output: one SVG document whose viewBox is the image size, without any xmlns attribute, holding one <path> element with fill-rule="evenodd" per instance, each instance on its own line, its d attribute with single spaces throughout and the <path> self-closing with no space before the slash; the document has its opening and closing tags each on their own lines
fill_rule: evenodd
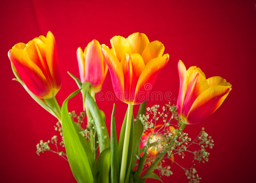
<svg viewBox="0 0 256 183">
<path fill-rule="evenodd" d="M 61 119 L 62 130 L 65 141 L 65 148 L 68 156 L 68 162 L 71 171 L 77 182 L 93 183 L 92 170 L 90 161 L 81 144 L 79 135 L 74 127 L 69 114 L 68 114 L 68 100 L 73 98 L 81 89 L 76 90 L 62 104 Z M 88 148 L 89 150 L 90 148 Z"/>
</svg>

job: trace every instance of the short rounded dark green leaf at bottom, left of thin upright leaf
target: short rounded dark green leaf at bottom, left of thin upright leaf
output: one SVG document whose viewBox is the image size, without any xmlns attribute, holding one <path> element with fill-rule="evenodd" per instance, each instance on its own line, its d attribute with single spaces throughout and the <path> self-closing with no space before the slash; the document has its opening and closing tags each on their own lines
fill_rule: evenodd
<svg viewBox="0 0 256 183">
<path fill-rule="evenodd" d="M 108 183 L 110 169 L 110 148 L 102 151 L 93 168 L 94 183 Z"/>
</svg>

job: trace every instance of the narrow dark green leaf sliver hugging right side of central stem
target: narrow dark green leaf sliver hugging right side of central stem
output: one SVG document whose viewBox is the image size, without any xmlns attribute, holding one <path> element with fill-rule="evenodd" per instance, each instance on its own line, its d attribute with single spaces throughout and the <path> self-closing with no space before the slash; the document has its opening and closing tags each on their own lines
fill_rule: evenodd
<svg viewBox="0 0 256 183">
<path fill-rule="evenodd" d="M 133 119 L 133 115 L 132 115 L 129 147 L 128 147 L 128 154 L 127 154 L 127 164 L 126 164 L 126 177 L 124 180 L 125 183 L 129 183 L 130 174 L 133 172 L 133 170 L 131 170 L 132 155 L 133 155 L 133 139 L 134 139 L 134 123 L 133 123 L 133 121 L 134 121 L 134 119 Z"/>
</svg>

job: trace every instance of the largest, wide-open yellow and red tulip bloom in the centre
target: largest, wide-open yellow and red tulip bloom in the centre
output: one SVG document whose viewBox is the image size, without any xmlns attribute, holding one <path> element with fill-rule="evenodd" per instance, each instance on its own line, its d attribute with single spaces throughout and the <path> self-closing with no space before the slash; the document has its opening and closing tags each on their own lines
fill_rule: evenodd
<svg viewBox="0 0 256 183">
<path fill-rule="evenodd" d="M 110 43 L 111 50 L 103 44 L 101 51 L 117 98 L 127 104 L 142 103 L 167 64 L 169 54 L 163 55 L 164 45 L 159 41 L 149 42 L 143 33 L 133 33 L 127 38 L 114 36 Z"/>
</svg>

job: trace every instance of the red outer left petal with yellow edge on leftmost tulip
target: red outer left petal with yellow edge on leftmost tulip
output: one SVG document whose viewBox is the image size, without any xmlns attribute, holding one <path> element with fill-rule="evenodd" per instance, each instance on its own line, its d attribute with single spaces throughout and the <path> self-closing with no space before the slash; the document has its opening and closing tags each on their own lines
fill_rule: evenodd
<svg viewBox="0 0 256 183">
<path fill-rule="evenodd" d="M 48 89 L 49 83 L 42 70 L 30 60 L 25 50 L 14 48 L 8 52 L 8 57 L 31 92 L 40 98 L 52 97 L 52 92 Z"/>
</svg>

